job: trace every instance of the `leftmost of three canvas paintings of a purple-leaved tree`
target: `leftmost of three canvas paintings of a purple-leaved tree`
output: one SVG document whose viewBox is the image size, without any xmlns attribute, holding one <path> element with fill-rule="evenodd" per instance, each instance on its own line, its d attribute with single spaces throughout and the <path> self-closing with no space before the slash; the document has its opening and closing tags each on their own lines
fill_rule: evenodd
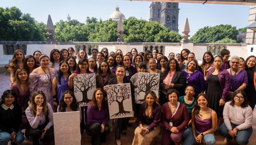
<svg viewBox="0 0 256 145">
<path fill-rule="evenodd" d="M 95 74 L 80 74 L 74 77 L 74 95 L 79 106 L 88 106 L 96 89 Z"/>
</svg>

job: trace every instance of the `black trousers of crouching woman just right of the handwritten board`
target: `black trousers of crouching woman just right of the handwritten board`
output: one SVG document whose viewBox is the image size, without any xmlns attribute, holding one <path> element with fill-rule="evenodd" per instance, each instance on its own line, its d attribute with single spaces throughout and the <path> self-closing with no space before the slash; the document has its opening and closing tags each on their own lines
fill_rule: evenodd
<svg viewBox="0 0 256 145">
<path fill-rule="evenodd" d="M 103 133 L 101 133 L 101 124 L 100 123 L 92 123 L 86 124 L 86 131 L 89 135 L 92 136 L 91 144 L 92 145 L 100 145 L 101 143 L 106 142 L 106 136 L 110 133 L 110 129 L 108 125 L 105 125 Z"/>
</svg>

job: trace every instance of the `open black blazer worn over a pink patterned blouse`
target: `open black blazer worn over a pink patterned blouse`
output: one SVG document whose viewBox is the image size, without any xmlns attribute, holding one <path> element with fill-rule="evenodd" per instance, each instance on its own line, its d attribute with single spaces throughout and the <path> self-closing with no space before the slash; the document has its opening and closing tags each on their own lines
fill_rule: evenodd
<svg viewBox="0 0 256 145">
<path fill-rule="evenodd" d="M 161 90 L 164 90 L 164 91 L 167 91 L 167 90 L 165 89 L 166 84 L 163 83 L 163 80 L 166 78 L 167 75 L 168 75 L 168 74 L 163 75 L 163 76 L 160 78 L 160 82 L 159 82 L 159 87 L 160 87 L 160 89 L 161 89 Z M 185 85 L 186 85 L 186 80 L 185 80 L 185 78 L 184 78 L 184 76 L 183 76 L 183 73 L 182 73 L 181 71 L 179 71 L 179 70 L 176 70 L 176 71 L 175 71 L 171 83 L 174 84 L 174 87 L 173 87 L 173 88 L 174 88 L 175 90 L 179 91 L 180 95 L 181 95 L 181 94 L 184 94 L 184 87 L 185 87 Z"/>
</svg>

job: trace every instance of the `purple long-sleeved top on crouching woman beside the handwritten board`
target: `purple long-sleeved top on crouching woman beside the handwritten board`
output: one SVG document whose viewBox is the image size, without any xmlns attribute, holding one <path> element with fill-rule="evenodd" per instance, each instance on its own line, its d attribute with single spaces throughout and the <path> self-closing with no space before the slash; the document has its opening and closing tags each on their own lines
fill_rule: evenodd
<svg viewBox="0 0 256 145">
<path fill-rule="evenodd" d="M 86 124 L 101 123 L 106 125 L 108 121 L 109 121 L 109 108 L 107 104 L 106 104 L 106 109 L 103 110 L 103 108 L 101 108 L 100 111 L 95 111 L 92 108 L 92 104 L 88 105 Z"/>
</svg>

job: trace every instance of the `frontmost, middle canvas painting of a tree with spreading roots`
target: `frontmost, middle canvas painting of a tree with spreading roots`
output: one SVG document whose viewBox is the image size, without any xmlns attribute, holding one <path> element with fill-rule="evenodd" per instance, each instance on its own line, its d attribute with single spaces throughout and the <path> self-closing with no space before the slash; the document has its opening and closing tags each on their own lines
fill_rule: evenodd
<svg viewBox="0 0 256 145">
<path fill-rule="evenodd" d="M 130 83 L 107 85 L 107 94 L 110 119 L 132 117 Z"/>
</svg>

